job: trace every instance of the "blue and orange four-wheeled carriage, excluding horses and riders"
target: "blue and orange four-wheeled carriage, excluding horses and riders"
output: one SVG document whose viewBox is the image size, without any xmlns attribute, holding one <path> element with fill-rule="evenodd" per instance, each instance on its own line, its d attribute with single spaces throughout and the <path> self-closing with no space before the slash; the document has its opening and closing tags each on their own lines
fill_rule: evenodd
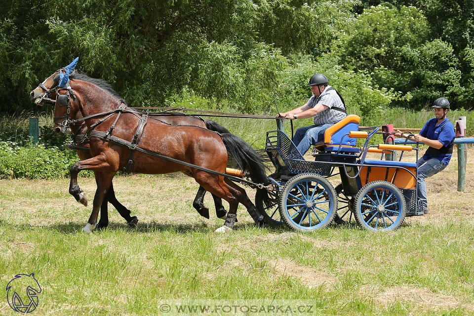
<svg viewBox="0 0 474 316">
<path fill-rule="evenodd" d="M 267 133 L 266 151 L 276 171 L 273 203 L 265 209 L 269 223 L 285 223 L 308 232 L 331 223 L 357 223 L 367 230 L 395 230 L 405 216 L 422 215 L 417 203 L 416 162 L 383 160 L 386 151 L 416 151 L 406 145 L 369 145 L 378 127 L 359 128 L 360 118 L 349 115 L 328 128 L 315 144 L 314 161 L 306 160 L 281 130 Z M 361 148 L 357 139 L 365 139 Z M 379 153 L 380 159 L 366 159 Z M 334 186 L 328 178 L 340 176 Z M 342 205 L 341 205 L 342 204 Z"/>
</svg>

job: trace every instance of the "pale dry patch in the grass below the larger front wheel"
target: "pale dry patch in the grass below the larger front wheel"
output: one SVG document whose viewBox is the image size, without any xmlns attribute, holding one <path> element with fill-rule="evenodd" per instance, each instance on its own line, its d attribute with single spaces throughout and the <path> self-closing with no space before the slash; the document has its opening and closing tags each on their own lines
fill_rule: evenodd
<svg viewBox="0 0 474 316">
<path fill-rule="evenodd" d="M 268 262 L 270 268 L 276 272 L 299 279 L 303 284 L 309 287 L 317 287 L 323 284 L 332 284 L 338 282 L 335 276 L 317 271 L 315 268 L 300 266 L 290 260 L 276 259 Z"/>
</svg>

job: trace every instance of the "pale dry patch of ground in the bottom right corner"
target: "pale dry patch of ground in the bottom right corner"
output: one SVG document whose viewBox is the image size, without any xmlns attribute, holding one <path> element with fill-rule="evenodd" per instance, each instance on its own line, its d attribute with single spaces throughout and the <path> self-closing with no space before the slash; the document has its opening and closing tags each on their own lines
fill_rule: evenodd
<svg viewBox="0 0 474 316">
<path fill-rule="evenodd" d="M 441 308 L 464 307 L 466 311 L 474 312 L 474 305 L 465 304 L 461 299 L 433 293 L 426 288 L 414 288 L 408 286 L 395 286 L 385 289 L 384 292 L 375 295 L 375 299 L 382 305 L 388 305 L 396 301 L 415 302 L 426 309 L 438 310 Z"/>
</svg>

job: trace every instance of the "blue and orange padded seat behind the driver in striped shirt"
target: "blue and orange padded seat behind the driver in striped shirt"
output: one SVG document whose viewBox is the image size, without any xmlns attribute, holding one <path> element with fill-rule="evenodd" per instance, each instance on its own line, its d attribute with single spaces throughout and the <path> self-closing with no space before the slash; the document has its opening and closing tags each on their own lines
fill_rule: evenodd
<svg viewBox="0 0 474 316">
<path fill-rule="evenodd" d="M 341 145 L 341 153 L 352 154 L 359 153 L 360 148 L 356 147 L 357 139 L 349 137 L 350 131 L 357 131 L 359 128 L 360 117 L 351 114 L 347 117 L 341 119 L 339 122 L 328 127 L 324 131 L 324 137 L 321 141 L 313 143 L 314 150 L 313 156 L 315 156 L 315 151 L 324 151 L 324 152 L 338 152 L 339 145 Z"/>
</svg>

